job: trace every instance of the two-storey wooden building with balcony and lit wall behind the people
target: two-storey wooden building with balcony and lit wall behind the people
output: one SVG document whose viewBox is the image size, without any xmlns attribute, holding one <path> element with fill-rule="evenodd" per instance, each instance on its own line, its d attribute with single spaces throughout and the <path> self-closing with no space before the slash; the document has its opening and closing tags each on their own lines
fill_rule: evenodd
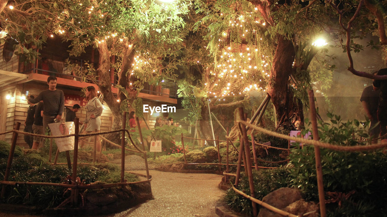
<svg viewBox="0 0 387 217">
<path fill-rule="evenodd" d="M 81 106 L 77 117 L 82 121 L 86 116 L 84 108 L 85 100 L 82 92 L 87 86 L 98 86 L 95 84 L 81 82 L 80 78 L 71 75 L 66 70 L 66 60 L 71 63 L 79 64 L 80 67 L 84 63 L 93 64 L 98 67 L 98 51 L 89 47 L 86 49 L 86 54 L 78 58 L 71 58 L 66 51 L 68 44 L 50 39 L 46 46 L 38 52 L 41 54 L 39 59 L 32 64 L 24 64 L 19 61 L 19 56 L 13 54 L 12 46 L 7 42 L 0 46 L 0 133 L 14 129 L 16 122 L 21 122 L 21 131 L 24 129 L 24 120 L 27 117 L 27 108 L 29 106 L 26 95 L 37 96 L 41 91 L 48 89 L 47 78 L 42 70 L 42 58 L 47 58 L 51 62 L 51 69 L 46 70 L 46 74 L 51 73 L 57 76 L 57 88 L 65 93 L 65 106 L 71 108 L 74 104 Z M 94 61 L 96 60 L 96 61 Z M 115 78 L 112 76 L 112 91 L 117 93 L 117 88 L 114 87 Z M 143 99 L 144 104 L 150 106 L 159 106 L 161 104 L 176 104 L 176 83 L 175 81 L 166 81 L 158 86 L 147 85 L 139 94 Z M 110 108 L 106 103 L 103 103 L 104 109 L 101 115 L 101 131 L 111 130 L 113 116 Z M 156 114 L 149 115 L 145 113 L 146 121 L 149 126 L 154 125 Z M 145 123 L 144 127 L 145 127 Z M 12 134 L 0 135 L 0 140 L 10 142 Z M 23 135 L 18 136 L 17 145 L 28 147 L 24 142 Z"/>
</svg>

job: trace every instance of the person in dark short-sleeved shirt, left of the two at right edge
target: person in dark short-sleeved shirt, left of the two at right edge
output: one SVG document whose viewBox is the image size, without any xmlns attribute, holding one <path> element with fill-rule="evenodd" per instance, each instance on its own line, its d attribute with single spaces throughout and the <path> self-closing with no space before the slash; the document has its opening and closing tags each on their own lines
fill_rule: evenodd
<svg viewBox="0 0 387 217">
<path fill-rule="evenodd" d="M 377 72 L 374 73 L 374 75 Z M 364 111 L 371 120 L 370 123 L 370 137 L 375 139 L 379 136 L 380 126 L 375 126 L 378 123 L 378 104 L 379 104 L 379 95 L 380 90 L 373 90 L 373 86 L 367 86 L 364 88 L 363 93 L 361 94 L 360 101 L 363 105 Z M 377 139 L 372 140 L 372 143 L 378 143 Z"/>
</svg>

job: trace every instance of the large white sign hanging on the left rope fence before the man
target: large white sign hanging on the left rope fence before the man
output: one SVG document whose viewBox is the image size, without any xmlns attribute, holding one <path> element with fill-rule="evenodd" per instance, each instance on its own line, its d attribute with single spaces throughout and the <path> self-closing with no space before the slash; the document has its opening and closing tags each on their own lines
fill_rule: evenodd
<svg viewBox="0 0 387 217">
<path fill-rule="evenodd" d="M 65 124 L 52 123 L 52 124 L 48 124 L 48 127 L 50 127 L 51 134 L 53 136 L 62 136 L 62 135 L 69 135 L 69 134 L 75 133 L 74 122 L 65 122 Z M 74 149 L 74 136 L 65 137 L 65 138 L 55 138 L 54 140 L 60 152 Z"/>
</svg>

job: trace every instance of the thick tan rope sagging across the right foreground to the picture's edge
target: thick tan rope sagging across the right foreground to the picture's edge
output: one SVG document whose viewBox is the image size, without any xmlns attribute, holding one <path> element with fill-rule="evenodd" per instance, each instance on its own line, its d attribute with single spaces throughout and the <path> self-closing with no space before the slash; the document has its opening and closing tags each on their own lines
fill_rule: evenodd
<svg viewBox="0 0 387 217">
<path fill-rule="evenodd" d="M 260 131 L 260 132 L 263 132 L 265 134 L 271 135 L 271 136 L 275 136 L 275 137 L 279 137 L 279 138 L 287 139 L 287 140 L 294 140 L 296 142 L 301 142 L 301 143 L 305 143 L 305 144 L 315 145 L 315 146 L 319 146 L 319 147 L 323 147 L 323 148 L 327 148 L 327 149 L 332 149 L 332 150 L 335 150 L 335 151 L 349 151 L 349 152 L 353 152 L 353 151 L 372 151 L 374 149 L 381 149 L 381 148 L 387 147 L 387 142 L 380 143 L 380 144 L 372 144 L 372 145 L 367 145 L 367 146 L 338 146 L 338 145 L 333 145 L 333 144 L 329 144 L 329 143 L 326 143 L 326 142 L 320 142 L 320 141 L 317 141 L 317 140 L 303 139 L 303 138 L 299 138 L 299 137 L 291 137 L 291 136 L 288 136 L 288 135 L 279 134 L 277 132 L 269 131 L 269 130 L 264 129 L 262 127 L 257 127 L 255 125 L 252 125 L 252 124 L 250 124 L 248 122 L 241 121 L 241 120 L 238 121 L 238 122 L 241 123 L 241 124 L 244 124 L 244 125 L 246 125 L 248 127 L 254 128 L 257 131 Z"/>
</svg>

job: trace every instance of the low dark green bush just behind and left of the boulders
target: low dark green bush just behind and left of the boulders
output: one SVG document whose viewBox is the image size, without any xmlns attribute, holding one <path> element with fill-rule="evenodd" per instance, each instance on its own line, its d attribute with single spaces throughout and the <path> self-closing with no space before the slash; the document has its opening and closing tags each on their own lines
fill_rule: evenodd
<svg viewBox="0 0 387 217">
<path fill-rule="evenodd" d="M 288 187 L 290 181 L 288 177 L 289 171 L 282 167 L 272 170 L 253 170 L 255 198 L 262 200 L 268 193 L 278 188 Z M 231 179 L 231 182 L 234 183 L 234 180 Z M 250 185 L 245 173 L 241 173 L 241 180 L 237 188 L 247 195 L 250 195 Z M 252 216 L 251 200 L 235 193 L 232 188 L 227 191 L 225 202 L 236 212 L 250 214 Z"/>
</svg>

